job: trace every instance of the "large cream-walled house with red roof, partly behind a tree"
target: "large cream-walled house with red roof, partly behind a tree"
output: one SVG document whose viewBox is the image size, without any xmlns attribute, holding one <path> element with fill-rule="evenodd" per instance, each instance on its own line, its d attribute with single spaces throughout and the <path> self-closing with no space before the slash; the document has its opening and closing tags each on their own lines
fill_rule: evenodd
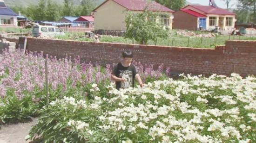
<svg viewBox="0 0 256 143">
<path fill-rule="evenodd" d="M 125 31 L 125 17 L 128 12 L 161 12 L 159 19 L 165 27 L 172 29 L 173 10 L 149 0 L 105 0 L 94 12 L 95 30 Z"/>
</svg>

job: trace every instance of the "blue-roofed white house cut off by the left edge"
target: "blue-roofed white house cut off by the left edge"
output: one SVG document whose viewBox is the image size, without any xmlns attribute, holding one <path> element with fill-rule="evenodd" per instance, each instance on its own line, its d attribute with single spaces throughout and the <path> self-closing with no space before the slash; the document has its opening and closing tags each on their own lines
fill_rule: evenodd
<svg viewBox="0 0 256 143">
<path fill-rule="evenodd" d="M 0 0 L 0 26 L 18 26 L 18 14 L 7 7 L 4 0 Z"/>
</svg>

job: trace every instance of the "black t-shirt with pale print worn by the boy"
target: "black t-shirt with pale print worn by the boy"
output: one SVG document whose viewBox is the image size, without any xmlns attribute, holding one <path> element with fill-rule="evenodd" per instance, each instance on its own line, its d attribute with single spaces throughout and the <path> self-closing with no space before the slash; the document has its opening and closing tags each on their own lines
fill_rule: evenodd
<svg viewBox="0 0 256 143">
<path fill-rule="evenodd" d="M 116 89 L 120 88 L 128 88 L 128 87 L 134 87 L 134 80 L 135 75 L 137 74 L 135 66 L 130 65 L 128 67 L 122 66 L 121 62 L 119 62 L 117 65 L 115 65 L 112 75 L 115 75 L 119 78 L 125 78 L 127 81 L 121 82 L 121 81 L 115 81 Z"/>
</svg>

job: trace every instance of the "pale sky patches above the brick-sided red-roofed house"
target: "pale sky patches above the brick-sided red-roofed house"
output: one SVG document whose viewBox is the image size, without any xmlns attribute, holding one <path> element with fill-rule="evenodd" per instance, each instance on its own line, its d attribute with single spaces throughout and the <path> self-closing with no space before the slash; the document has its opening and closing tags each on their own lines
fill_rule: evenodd
<svg viewBox="0 0 256 143">
<path fill-rule="evenodd" d="M 200 4 L 200 5 L 204 5 L 204 6 L 209 5 L 209 0 L 187 0 L 187 1 L 190 3 Z M 225 1 L 226 0 L 215 0 L 215 3 L 217 4 L 218 7 L 227 8 Z M 237 1 L 238 0 L 231 0 L 229 3 L 229 6 L 234 4 L 231 8 L 236 8 Z"/>
</svg>

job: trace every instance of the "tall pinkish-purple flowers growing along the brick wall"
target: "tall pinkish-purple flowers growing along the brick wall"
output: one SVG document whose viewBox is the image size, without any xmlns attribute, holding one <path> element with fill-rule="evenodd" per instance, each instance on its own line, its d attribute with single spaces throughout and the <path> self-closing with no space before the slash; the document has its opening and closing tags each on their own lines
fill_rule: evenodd
<svg viewBox="0 0 256 143">
<path fill-rule="evenodd" d="M 50 101 L 63 96 L 90 97 L 93 83 L 101 88 L 110 83 L 113 66 L 103 68 L 92 63 L 80 63 L 79 57 L 57 59 L 47 55 L 44 58 L 43 53 L 22 55 L 22 50 L 5 50 L 1 57 L 0 124 L 29 119 L 46 105 L 45 60 L 48 63 Z M 140 63 L 135 64 L 144 81 L 147 77 L 162 76 L 162 66 L 154 71 L 152 65 L 144 67 Z M 104 90 L 101 94 L 105 94 Z"/>
</svg>

